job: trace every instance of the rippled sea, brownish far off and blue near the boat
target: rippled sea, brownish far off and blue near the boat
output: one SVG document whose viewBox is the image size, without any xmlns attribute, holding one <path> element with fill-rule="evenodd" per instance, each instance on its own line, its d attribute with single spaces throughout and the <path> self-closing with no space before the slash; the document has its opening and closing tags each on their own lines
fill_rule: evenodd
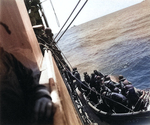
<svg viewBox="0 0 150 125">
<path fill-rule="evenodd" d="M 58 46 L 81 76 L 96 69 L 121 74 L 136 88 L 150 88 L 149 5 L 145 1 L 71 27 Z"/>
</svg>

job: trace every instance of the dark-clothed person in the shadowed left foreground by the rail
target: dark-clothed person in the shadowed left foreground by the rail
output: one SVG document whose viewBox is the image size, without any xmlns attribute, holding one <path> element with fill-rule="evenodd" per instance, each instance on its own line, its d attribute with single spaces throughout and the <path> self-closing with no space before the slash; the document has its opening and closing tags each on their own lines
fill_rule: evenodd
<svg viewBox="0 0 150 125">
<path fill-rule="evenodd" d="M 1 125 L 29 124 L 32 118 L 39 120 L 40 105 L 48 106 L 49 103 L 52 108 L 49 92 L 45 86 L 39 85 L 35 78 L 30 69 L 0 47 Z M 45 101 L 41 103 L 40 99 Z"/>
</svg>

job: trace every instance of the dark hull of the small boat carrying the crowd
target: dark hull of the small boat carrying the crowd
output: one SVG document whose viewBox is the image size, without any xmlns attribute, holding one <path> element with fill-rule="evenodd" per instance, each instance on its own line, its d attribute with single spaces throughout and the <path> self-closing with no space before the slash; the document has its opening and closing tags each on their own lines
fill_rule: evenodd
<svg viewBox="0 0 150 125">
<path fill-rule="evenodd" d="M 88 93 L 85 91 L 89 90 Z M 138 90 L 141 92 L 141 95 L 136 102 L 136 105 L 132 107 L 127 107 L 122 105 L 119 102 L 116 102 L 113 99 L 110 99 L 111 103 L 116 103 L 117 108 L 119 106 L 122 106 L 124 109 L 126 109 L 124 112 L 123 111 L 115 111 L 113 108 L 110 108 L 107 103 L 105 103 L 104 95 L 99 94 L 97 91 L 87 88 L 87 87 L 82 87 L 82 95 L 88 106 L 92 109 L 92 111 L 97 114 L 101 119 L 110 121 L 110 120 L 130 120 L 130 119 L 143 119 L 143 118 L 149 118 L 150 117 L 150 88 L 147 88 L 145 90 Z M 94 103 L 93 100 L 89 97 L 91 92 L 95 93 L 95 95 L 99 95 L 99 99 L 97 103 Z M 108 98 L 107 98 L 108 99 Z M 142 107 L 140 107 L 143 105 Z M 138 108 L 136 107 L 138 106 Z"/>
</svg>

